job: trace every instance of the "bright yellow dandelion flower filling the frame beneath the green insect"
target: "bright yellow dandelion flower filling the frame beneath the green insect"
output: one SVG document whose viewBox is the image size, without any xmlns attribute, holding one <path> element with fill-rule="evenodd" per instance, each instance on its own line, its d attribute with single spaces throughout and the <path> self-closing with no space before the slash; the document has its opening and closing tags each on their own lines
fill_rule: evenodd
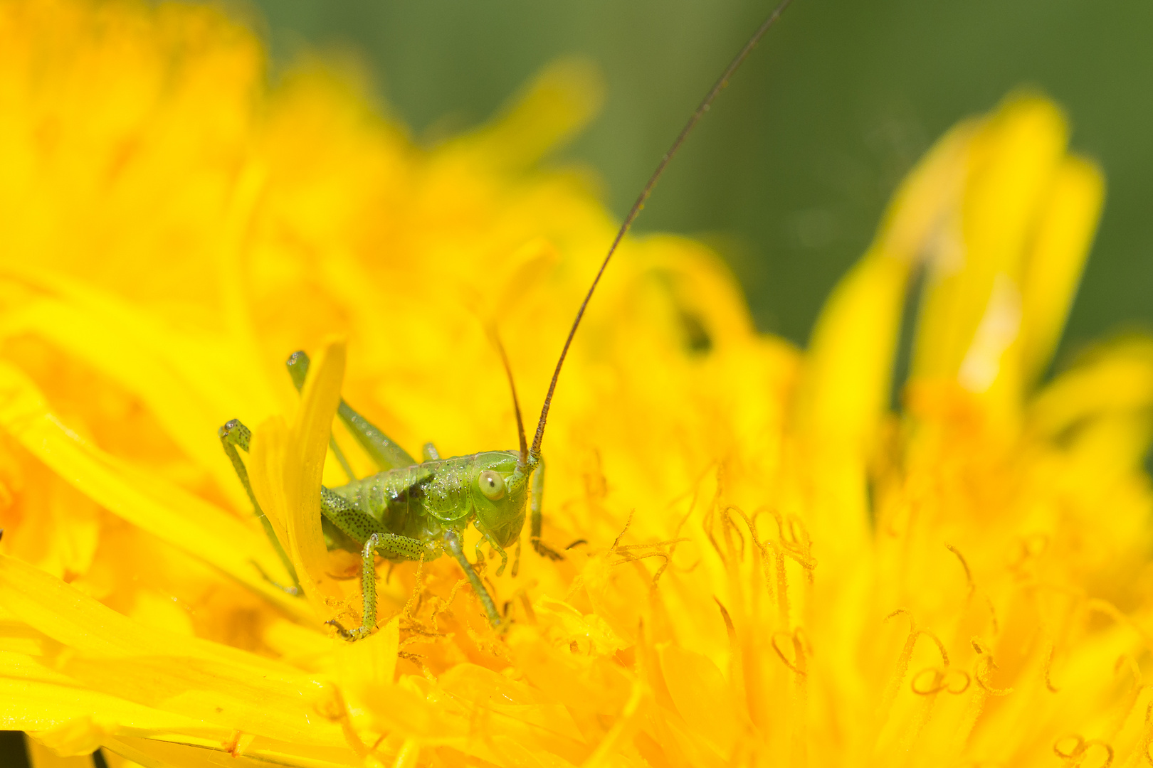
<svg viewBox="0 0 1153 768">
<path fill-rule="evenodd" d="M 804 352 L 703 246 L 627 239 L 544 443 L 576 543 L 483 550 L 499 631 L 451 558 L 380 564 L 346 642 L 330 431 L 372 464 L 339 397 L 409 449 L 514 446 L 489 328 L 540 403 L 613 226 L 537 161 L 597 85 L 557 64 L 425 151 L 262 61 L 204 7 L 0 7 L 0 723 L 38 768 L 1153 761 L 1153 342 L 1042 383 L 1103 196 L 1053 104 L 944 136 Z"/>
</svg>

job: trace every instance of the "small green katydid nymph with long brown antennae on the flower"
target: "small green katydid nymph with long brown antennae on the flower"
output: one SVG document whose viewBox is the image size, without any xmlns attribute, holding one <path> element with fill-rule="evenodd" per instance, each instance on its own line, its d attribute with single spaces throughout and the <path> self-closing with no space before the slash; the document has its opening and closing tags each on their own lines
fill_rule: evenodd
<svg viewBox="0 0 1153 768">
<path fill-rule="evenodd" d="M 783 0 L 768 18 L 756 29 L 740 52 L 725 68 L 704 99 L 689 116 L 685 127 L 677 135 L 672 146 L 661 159 L 656 170 L 649 177 L 625 216 L 617 231 L 608 254 L 589 286 L 588 292 L 568 330 L 564 348 L 552 372 L 549 389 L 541 409 L 536 433 L 532 446 L 525 438 L 525 426 L 517 402 L 517 390 L 513 387 L 512 370 L 504 349 L 497 342 L 500 359 L 508 377 L 512 389 L 517 428 L 520 436 L 519 450 L 489 450 L 469 456 L 440 458 L 431 443 L 424 446 L 423 461 L 417 462 L 400 446 L 393 442 L 380 429 L 354 411 L 342 400 L 337 410 L 341 421 L 361 444 L 369 457 L 377 464 L 376 474 L 362 479 L 351 479 L 348 484 L 334 488 L 321 488 L 321 523 L 325 543 L 330 549 L 346 549 L 361 555 L 361 588 L 363 593 L 363 611 L 360 626 L 347 630 L 336 622 L 329 622 L 347 640 L 359 640 L 371 634 L 376 629 L 376 564 L 377 555 L 390 561 L 432 560 L 449 554 L 460 564 L 473 586 L 476 596 L 484 606 L 488 618 L 496 628 L 502 625 L 502 616 L 496 602 L 484 588 L 477 570 L 469 563 L 464 549 L 464 533 L 469 525 L 481 534 L 481 542 L 488 542 L 500 555 L 500 575 L 507 565 L 506 547 L 518 545 L 525 525 L 526 508 L 532 515 L 533 548 L 544 557 L 559 560 L 562 556 L 541 541 L 541 503 L 544 488 L 544 462 L 541 458 L 541 443 L 544 439 L 544 426 L 549 416 L 549 406 L 556 390 L 560 368 L 564 365 L 568 348 L 572 344 L 576 328 L 580 326 L 585 309 L 604 274 L 609 260 L 617 246 L 632 226 L 664 173 L 669 160 L 677 153 L 685 137 L 696 122 L 708 112 L 717 94 L 728 84 L 729 77 L 744 62 L 761 37 L 777 21 L 791 0 Z M 288 358 L 288 372 L 293 382 L 300 389 L 308 372 L 309 359 L 304 352 L 295 352 Z M 294 575 L 292 563 L 284 548 L 277 541 L 271 523 L 264 517 L 256 502 L 248 480 L 248 471 L 240 458 L 238 448 L 247 451 L 251 433 L 239 420 L 233 419 L 220 427 L 220 442 L 248 492 L 249 499 L 284 561 L 286 569 Z M 341 463 L 349 478 L 354 478 L 336 442 L 331 442 L 336 458 Z M 477 561 L 481 560 L 481 543 L 477 543 Z M 519 550 L 518 550 L 519 552 Z M 515 567 L 513 568 L 515 575 Z M 299 591 L 299 585 L 288 587 Z"/>
</svg>

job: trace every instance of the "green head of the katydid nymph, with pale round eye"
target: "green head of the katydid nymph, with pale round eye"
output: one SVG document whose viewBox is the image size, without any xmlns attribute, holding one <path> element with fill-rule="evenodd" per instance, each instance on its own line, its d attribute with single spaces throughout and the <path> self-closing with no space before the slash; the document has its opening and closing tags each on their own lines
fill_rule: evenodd
<svg viewBox="0 0 1153 768">
<path fill-rule="evenodd" d="M 502 547 L 520 538 L 534 467 L 521 467 L 520 455 L 512 450 L 492 450 L 474 457 L 470 491 L 477 527 Z"/>
</svg>

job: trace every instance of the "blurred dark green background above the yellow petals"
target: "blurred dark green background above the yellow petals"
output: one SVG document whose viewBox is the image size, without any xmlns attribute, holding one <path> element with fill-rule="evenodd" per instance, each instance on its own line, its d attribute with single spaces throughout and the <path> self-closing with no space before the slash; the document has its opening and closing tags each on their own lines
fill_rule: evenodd
<svg viewBox="0 0 1153 768">
<path fill-rule="evenodd" d="M 483 121 L 557 56 L 591 59 L 605 106 L 563 157 L 597 169 L 618 215 L 771 2 L 247 1 L 274 66 L 317 50 L 354 56 L 417 139 Z M 708 241 L 760 328 L 802 342 L 921 152 L 1010 90 L 1040 89 L 1065 106 L 1073 147 L 1109 184 L 1068 353 L 1153 325 L 1151 85 L 1151 2 L 796 0 L 636 227 Z"/>
</svg>

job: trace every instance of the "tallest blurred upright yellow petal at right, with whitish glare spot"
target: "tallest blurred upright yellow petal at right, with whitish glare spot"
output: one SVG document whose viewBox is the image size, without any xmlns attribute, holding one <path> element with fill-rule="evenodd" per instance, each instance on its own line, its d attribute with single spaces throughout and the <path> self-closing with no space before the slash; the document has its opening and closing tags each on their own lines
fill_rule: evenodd
<svg viewBox="0 0 1153 768">
<path fill-rule="evenodd" d="M 1050 101 L 1009 99 L 974 135 L 960 239 L 929 265 L 912 375 L 956 380 L 1011 423 L 1020 397 L 1022 286 L 1028 237 L 1068 138 Z"/>
</svg>

